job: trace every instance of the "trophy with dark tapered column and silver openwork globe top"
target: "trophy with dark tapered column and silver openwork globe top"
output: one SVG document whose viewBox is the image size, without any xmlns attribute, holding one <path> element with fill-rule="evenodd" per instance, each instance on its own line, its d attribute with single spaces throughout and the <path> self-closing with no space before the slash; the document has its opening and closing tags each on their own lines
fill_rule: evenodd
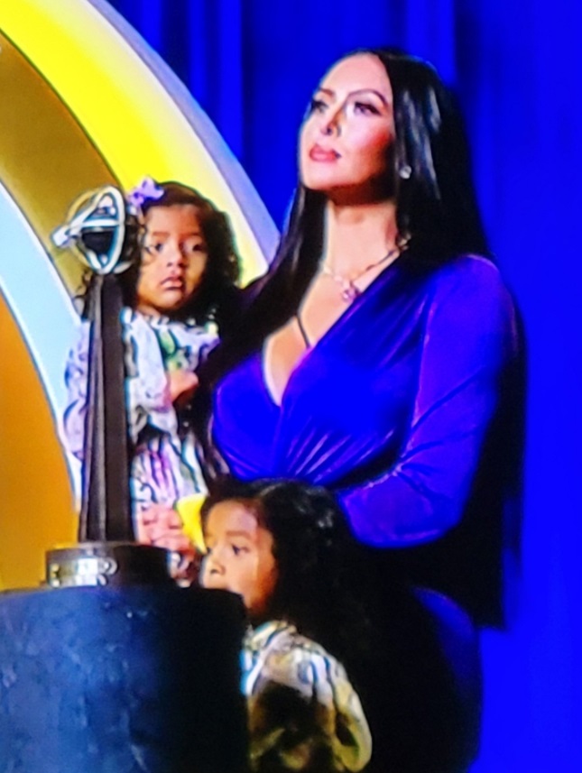
<svg viewBox="0 0 582 773">
<path fill-rule="evenodd" d="M 127 222 L 121 192 L 106 186 L 53 235 L 57 244 L 75 248 L 93 275 L 85 308 L 90 334 L 79 543 L 47 552 L 51 587 L 171 581 L 169 551 L 134 540 L 118 281 L 128 267 Z"/>
</svg>

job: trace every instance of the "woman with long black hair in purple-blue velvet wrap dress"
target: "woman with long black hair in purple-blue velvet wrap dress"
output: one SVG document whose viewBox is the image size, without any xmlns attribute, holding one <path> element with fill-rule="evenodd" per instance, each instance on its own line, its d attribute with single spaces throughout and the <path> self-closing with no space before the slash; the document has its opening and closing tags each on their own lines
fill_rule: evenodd
<svg viewBox="0 0 582 773">
<path fill-rule="evenodd" d="M 411 581 L 499 622 L 521 356 L 453 99 L 420 60 L 357 52 L 316 90 L 299 158 L 273 266 L 208 363 L 208 457 L 328 486 Z"/>
</svg>

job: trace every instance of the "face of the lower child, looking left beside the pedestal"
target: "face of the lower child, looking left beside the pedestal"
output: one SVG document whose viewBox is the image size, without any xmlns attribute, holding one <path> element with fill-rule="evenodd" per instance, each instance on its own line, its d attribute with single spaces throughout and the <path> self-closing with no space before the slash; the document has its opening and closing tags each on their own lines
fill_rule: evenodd
<svg viewBox="0 0 582 773">
<path fill-rule="evenodd" d="M 242 502 L 220 502 L 208 513 L 204 538 L 200 583 L 241 595 L 250 616 L 260 617 L 277 579 L 271 533 Z"/>
</svg>

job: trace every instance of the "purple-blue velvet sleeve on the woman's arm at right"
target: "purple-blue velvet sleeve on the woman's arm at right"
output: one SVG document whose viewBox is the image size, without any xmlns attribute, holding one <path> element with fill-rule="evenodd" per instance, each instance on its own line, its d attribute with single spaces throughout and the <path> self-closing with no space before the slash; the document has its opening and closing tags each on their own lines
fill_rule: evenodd
<svg viewBox="0 0 582 773">
<path fill-rule="evenodd" d="M 513 302 L 494 265 L 451 264 L 434 282 L 407 437 L 384 474 L 339 493 L 356 536 L 383 547 L 438 538 L 460 520 L 516 354 Z"/>
</svg>

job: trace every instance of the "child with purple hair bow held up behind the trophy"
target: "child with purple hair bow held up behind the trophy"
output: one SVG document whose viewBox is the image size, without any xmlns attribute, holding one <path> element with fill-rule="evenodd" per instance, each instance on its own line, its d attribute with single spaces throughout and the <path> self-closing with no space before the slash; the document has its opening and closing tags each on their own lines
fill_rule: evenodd
<svg viewBox="0 0 582 773">
<path fill-rule="evenodd" d="M 196 369 L 236 320 L 238 257 L 227 217 L 198 191 L 144 179 L 128 196 L 140 230 L 119 275 L 125 308 L 131 498 L 139 541 L 188 550 L 173 511 L 206 492 L 189 401 Z M 81 462 L 88 400 L 88 323 L 69 354 L 64 433 Z"/>
</svg>

